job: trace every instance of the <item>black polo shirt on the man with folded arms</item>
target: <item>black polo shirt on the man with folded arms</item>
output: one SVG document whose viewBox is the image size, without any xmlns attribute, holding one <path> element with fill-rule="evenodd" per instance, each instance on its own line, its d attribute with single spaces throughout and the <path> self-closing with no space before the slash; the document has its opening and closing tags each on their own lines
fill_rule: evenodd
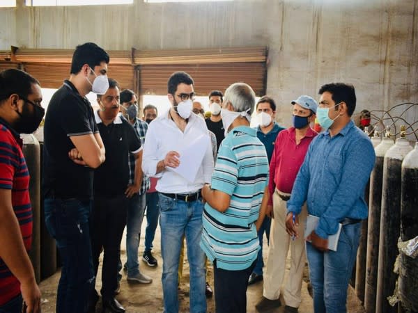
<svg viewBox="0 0 418 313">
<path fill-rule="evenodd" d="M 93 109 L 68 80 L 54 93 L 45 115 L 42 191 L 45 198 L 90 199 L 93 168 L 79 166 L 69 157 L 75 148 L 70 137 L 98 133 Z"/>
</svg>

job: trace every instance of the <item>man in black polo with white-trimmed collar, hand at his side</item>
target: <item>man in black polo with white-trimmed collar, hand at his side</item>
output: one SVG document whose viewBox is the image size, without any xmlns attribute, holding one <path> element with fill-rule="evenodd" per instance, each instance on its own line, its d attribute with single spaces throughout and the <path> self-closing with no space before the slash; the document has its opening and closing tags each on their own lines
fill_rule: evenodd
<svg viewBox="0 0 418 313">
<path fill-rule="evenodd" d="M 91 246 L 96 274 L 100 252 L 104 249 L 101 289 L 104 312 L 125 312 L 114 296 L 128 198 L 138 193 L 138 188 L 129 184 L 129 152 L 135 158 L 134 181 L 138 185 L 142 182 L 141 141 L 134 128 L 119 114 L 119 95 L 118 83 L 109 79 L 109 89 L 104 95 L 98 95 L 100 109 L 95 111 L 95 121 L 106 147 L 106 161 L 94 172 Z M 98 294 L 93 290 L 89 310 L 95 312 L 93 307 L 97 300 Z"/>
</svg>

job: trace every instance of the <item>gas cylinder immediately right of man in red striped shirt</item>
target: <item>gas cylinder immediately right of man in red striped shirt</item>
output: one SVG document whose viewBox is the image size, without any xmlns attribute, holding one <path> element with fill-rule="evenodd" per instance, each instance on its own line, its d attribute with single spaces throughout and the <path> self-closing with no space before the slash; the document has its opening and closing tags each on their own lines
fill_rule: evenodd
<svg viewBox="0 0 418 313">
<path fill-rule="evenodd" d="M 32 247 L 29 257 L 35 271 L 36 282 L 40 282 L 40 146 L 33 135 L 21 135 L 23 154 L 31 179 L 29 180 L 29 196 L 32 207 Z"/>
</svg>

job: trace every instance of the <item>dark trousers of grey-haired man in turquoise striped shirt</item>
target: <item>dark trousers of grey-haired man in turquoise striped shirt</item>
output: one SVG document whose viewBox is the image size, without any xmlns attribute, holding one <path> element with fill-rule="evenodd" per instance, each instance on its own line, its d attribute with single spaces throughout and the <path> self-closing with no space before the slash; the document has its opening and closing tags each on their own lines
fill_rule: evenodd
<svg viewBox="0 0 418 313">
<path fill-rule="evenodd" d="M 257 260 L 241 271 L 228 271 L 218 268 L 216 260 L 213 262 L 216 313 L 247 312 L 248 279 L 254 266 L 256 266 L 256 262 Z"/>
</svg>

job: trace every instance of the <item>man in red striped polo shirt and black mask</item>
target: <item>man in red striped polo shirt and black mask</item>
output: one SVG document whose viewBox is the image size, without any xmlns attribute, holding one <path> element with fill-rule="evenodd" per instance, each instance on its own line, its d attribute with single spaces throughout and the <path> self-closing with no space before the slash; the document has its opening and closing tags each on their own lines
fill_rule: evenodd
<svg viewBox="0 0 418 313">
<path fill-rule="evenodd" d="M 39 82 L 21 70 L 0 73 L 0 313 L 40 312 L 40 290 L 27 251 L 32 242 L 29 171 L 20 133 L 45 113 Z"/>
</svg>

